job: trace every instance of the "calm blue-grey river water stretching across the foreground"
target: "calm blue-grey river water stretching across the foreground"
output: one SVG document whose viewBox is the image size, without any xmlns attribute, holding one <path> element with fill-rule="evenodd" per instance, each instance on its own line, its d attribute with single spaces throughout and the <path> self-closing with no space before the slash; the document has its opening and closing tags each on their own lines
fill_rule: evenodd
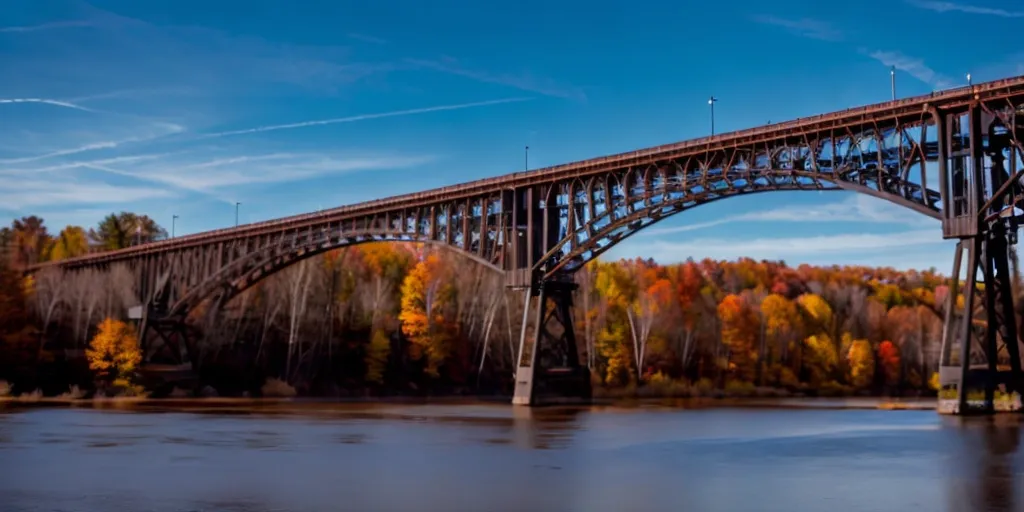
<svg viewBox="0 0 1024 512">
<path fill-rule="evenodd" d="M 3 511 L 1024 510 L 1017 417 L 0 410 Z"/>
</svg>

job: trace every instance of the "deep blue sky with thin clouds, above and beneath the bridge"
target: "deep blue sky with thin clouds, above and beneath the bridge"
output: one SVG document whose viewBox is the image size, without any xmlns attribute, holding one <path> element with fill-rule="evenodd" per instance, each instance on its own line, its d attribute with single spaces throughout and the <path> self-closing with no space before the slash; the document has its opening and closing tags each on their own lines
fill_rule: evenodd
<svg viewBox="0 0 1024 512">
<path fill-rule="evenodd" d="M 1024 74 L 1024 5 L 0 0 L 0 215 L 178 234 Z M 966 43 L 972 41 L 972 43 Z M 385 116 L 377 116 L 385 115 Z M 326 123 L 316 121 L 333 120 Z M 272 128 L 272 129 L 268 129 Z M 936 221 L 846 193 L 685 212 L 609 257 L 948 271 Z"/>
</svg>

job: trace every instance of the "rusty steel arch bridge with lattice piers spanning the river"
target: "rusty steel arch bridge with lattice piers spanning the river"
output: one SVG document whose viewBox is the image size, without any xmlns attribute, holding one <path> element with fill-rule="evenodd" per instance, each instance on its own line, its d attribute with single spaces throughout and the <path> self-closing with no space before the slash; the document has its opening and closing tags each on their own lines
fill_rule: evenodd
<svg viewBox="0 0 1024 512">
<path fill-rule="evenodd" d="M 1020 118 L 1018 116 L 1021 116 Z M 514 403 L 588 398 L 572 328 L 572 272 L 631 234 L 714 201 L 851 190 L 942 222 L 957 240 L 943 307 L 941 379 L 1021 389 L 1010 246 L 1024 200 L 1024 77 L 972 85 L 331 210 L 164 240 L 29 271 L 126 267 L 144 302 L 143 346 L 304 258 L 367 242 L 451 248 L 524 293 Z M 936 237 L 940 233 L 936 232 Z M 966 264 L 964 259 L 966 256 Z M 54 270 L 56 269 L 56 270 Z M 963 281 L 963 283 L 962 283 Z M 955 309 L 964 293 L 966 307 Z M 954 350 L 954 347 L 957 349 Z M 1009 360 L 1009 373 L 1000 370 Z"/>
</svg>

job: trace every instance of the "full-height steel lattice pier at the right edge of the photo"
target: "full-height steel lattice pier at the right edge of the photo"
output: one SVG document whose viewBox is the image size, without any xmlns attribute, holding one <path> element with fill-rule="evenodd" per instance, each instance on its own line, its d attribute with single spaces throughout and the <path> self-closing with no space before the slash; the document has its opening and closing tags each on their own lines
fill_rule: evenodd
<svg viewBox="0 0 1024 512">
<path fill-rule="evenodd" d="M 939 133 L 943 237 L 958 240 L 945 306 L 938 409 L 957 415 L 1019 411 L 1024 379 L 1011 247 L 1019 221 L 1015 196 L 1022 191 L 1024 175 L 1016 169 L 1021 147 L 1015 141 L 1024 140 L 1024 129 L 1016 113 L 979 102 L 967 112 L 933 111 L 933 117 Z"/>
</svg>

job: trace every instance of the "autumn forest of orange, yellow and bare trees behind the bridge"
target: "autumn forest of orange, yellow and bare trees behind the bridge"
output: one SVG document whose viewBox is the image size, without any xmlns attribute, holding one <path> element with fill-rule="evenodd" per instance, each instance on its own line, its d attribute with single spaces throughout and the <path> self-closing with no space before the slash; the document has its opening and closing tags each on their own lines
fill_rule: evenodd
<svg viewBox="0 0 1024 512">
<path fill-rule="evenodd" d="M 127 270 L 23 269 L 166 237 L 129 212 L 56 234 L 38 217 L 0 229 L 0 392 L 88 394 L 115 377 L 119 389 L 153 392 L 137 377 L 126 311 L 139 300 Z M 215 314 L 196 312 L 199 384 L 187 392 L 511 394 L 523 296 L 502 279 L 413 244 L 302 260 Z M 597 396 L 915 396 L 938 387 L 949 283 L 934 269 L 638 259 L 593 261 L 575 281 L 577 340 Z"/>
</svg>

